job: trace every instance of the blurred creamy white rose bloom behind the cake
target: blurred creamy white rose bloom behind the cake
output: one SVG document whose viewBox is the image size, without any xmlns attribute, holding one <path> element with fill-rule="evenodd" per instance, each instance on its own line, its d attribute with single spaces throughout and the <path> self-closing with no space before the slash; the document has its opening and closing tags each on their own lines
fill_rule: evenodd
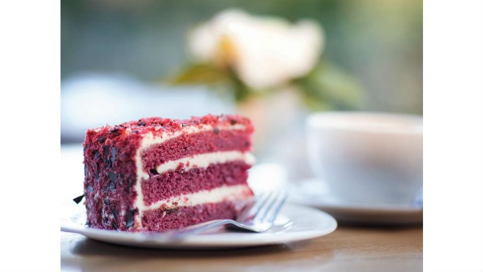
<svg viewBox="0 0 483 272">
<path fill-rule="evenodd" d="M 199 61 L 230 66 L 252 88 L 306 75 L 323 49 L 320 26 L 227 10 L 194 29 L 189 49 Z"/>
</svg>

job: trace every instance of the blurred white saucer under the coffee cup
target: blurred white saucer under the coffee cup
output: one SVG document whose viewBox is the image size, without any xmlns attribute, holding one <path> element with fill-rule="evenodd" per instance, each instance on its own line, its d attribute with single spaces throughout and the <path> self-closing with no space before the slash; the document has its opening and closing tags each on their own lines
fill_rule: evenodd
<svg viewBox="0 0 483 272">
<path fill-rule="evenodd" d="M 422 224 L 422 206 L 350 203 L 331 195 L 318 179 L 288 185 L 288 201 L 312 206 L 334 216 L 339 222 L 365 225 Z"/>
</svg>

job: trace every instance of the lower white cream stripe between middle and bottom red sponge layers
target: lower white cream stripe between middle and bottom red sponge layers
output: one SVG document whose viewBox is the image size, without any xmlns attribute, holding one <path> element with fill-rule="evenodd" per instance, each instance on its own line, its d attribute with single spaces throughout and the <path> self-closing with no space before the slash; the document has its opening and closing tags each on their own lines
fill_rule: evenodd
<svg viewBox="0 0 483 272">
<path fill-rule="evenodd" d="M 202 190 L 196 193 L 184 194 L 174 196 L 169 199 L 160 200 L 144 208 L 157 209 L 162 205 L 168 207 L 177 206 L 196 206 L 205 203 L 218 203 L 224 200 L 238 200 L 246 198 L 247 194 L 251 194 L 250 188 L 246 185 L 232 185 L 232 186 L 220 186 L 212 190 Z"/>
</svg>

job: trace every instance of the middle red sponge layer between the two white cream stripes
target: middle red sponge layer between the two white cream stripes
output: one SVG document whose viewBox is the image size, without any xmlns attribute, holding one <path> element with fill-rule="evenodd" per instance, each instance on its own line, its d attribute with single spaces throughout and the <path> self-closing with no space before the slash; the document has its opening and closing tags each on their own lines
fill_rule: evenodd
<svg viewBox="0 0 483 272">
<path fill-rule="evenodd" d="M 141 182 L 145 205 L 182 194 L 211 190 L 223 185 L 246 183 L 250 164 L 244 161 L 210 164 L 208 167 L 194 167 L 184 170 L 168 170 L 151 176 Z"/>
</svg>

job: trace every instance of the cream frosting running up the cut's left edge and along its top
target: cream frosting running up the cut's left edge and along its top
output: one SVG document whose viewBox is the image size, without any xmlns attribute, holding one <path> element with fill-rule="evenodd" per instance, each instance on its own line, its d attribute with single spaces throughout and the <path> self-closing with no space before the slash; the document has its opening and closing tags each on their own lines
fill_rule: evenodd
<svg viewBox="0 0 483 272">
<path fill-rule="evenodd" d="M 180 125 L 181 126 L 181 125 Z M 219 130 L 244 130 L 246 127 L 241 124 L 235 124 L 233 126 L 217 126 Z M 153 135 L 153 133 L 149 132 L 143 135 L 143 138 L 141 140 L 141 144 L 139 145 L 138 149 L 136 150 L 136 156 L 135 156 L 135 162 L 136 162 L 136 185 L 135 185 L 135 190 L 137 193 L 136 200 L 134 201 L 134 206 L 138 208 L 138 216 L 136 216 L 135 221 L 136 225 L 139 227 L 142 225 L 141 224 L 141 218 L 142 218 L 142 210 L 145 208 L 144 206 L 144 201 L 143 201 L 143 195 L 142 195 L 142 188 L 141 188 L 141 181 L 142 179 L 147 179 L 149 178 L 149 174 L 143 170 L 142 167 L 142 159 L 141 159 L 141 153 L 149 148 L 150 146 L 153 146 L 155 144 L 160 144 L 163 143 L 167 140 L 174 139 L 176 137 L 179 137 L 183 134 L 194 134 L 198 132 L 203 132 L 203 131 L 210 131 L 213 130 L 214 127 L 210 125 L 202 125 L 200 127 L 198 126 L 187 126 L 187 127 L 182 127 L 181 130 L 176 131 L 176 132 L 164 132 L 161 133 L 160 135 Z"/>
</svg>

